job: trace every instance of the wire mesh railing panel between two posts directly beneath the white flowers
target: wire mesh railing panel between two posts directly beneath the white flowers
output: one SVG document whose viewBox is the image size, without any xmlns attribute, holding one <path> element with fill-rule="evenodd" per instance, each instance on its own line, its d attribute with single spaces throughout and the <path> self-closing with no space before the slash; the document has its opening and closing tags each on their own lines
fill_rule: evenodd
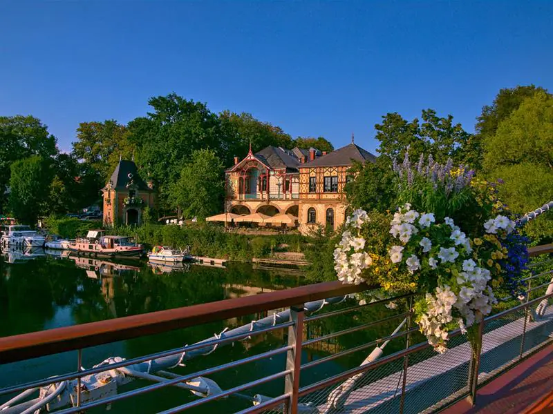
<svg viewBox="0 0 553 414">
<path fill-rule="evenodd" d="M 466 392 L 471 357 L 467 337 L 453 337 L 447 346 L 444 354 L 426 348 L 409 355 L 404 413 L 434 411 Z"/>
</svg>

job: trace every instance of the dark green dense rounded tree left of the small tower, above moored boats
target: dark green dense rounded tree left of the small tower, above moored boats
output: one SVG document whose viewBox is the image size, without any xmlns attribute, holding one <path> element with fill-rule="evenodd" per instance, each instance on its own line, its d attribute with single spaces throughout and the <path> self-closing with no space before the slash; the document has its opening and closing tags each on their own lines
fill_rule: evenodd
<svg viewBox="0 0 553 414">
<path fill-rule="evenodd" d="M 46 213 L 50 194 L 50 162 L 39 156 L 16 161 L 11 166 L 10 209 L 19 220 L 35 224 Z"/>
</svg>

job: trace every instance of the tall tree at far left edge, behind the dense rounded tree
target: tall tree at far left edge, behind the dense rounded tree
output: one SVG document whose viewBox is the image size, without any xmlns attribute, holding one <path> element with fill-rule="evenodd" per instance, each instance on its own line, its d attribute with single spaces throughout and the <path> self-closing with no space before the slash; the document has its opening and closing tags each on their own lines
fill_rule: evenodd
<svg viewBox="0 0 553 414">
<path fill-rule="evenodd" d="M 56 139 L 48 127 L 32 116 L 0 117 L 0 213 L 6 206 L 4 193 L 10 181 L 10 166 L 32 155 L 44 158 L 57 153 Z"/>
</svg>

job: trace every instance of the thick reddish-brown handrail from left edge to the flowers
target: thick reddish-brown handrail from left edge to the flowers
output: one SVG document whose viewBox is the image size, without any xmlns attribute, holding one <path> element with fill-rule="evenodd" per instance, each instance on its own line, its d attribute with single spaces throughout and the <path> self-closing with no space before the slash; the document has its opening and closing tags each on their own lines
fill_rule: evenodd
<svg viewBox="0 0 553 414">
<path fill-rule="evenodd" d="M 338 280 L 0 338 L 0 362 L 17 362 L 369 290 Z"/>
</svg>

